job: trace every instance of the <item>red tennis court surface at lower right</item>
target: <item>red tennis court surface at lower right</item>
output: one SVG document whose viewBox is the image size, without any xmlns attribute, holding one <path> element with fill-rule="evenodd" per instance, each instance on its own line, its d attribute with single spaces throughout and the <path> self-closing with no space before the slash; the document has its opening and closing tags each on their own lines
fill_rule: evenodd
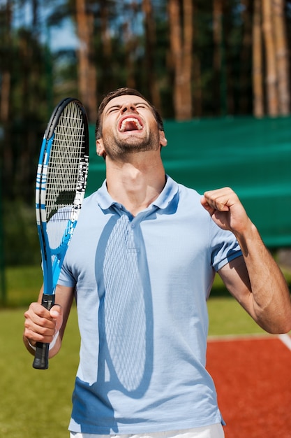
<svg viewBox="0 0 291 438">
<path fill-rule="evenodd" d="M 209 338 L 225 438 L 291 438 L 291 338 Z"/>
</svg>

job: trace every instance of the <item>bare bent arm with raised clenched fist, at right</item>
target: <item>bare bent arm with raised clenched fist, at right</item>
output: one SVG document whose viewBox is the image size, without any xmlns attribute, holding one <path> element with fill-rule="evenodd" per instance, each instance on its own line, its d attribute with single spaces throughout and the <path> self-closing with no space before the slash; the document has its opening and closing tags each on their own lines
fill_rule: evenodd
<svg viewBox="0 0 291 438">
<path fill-rule="evenodd" d="M 206 192 L 201 200 L 216 224 L 237 237 L 243 253 L 220 274 L 226 287 L 260 327 L 271 333 L 291 330 L 290 292 L 260 234 L 230 188 Z"/>
</svg>

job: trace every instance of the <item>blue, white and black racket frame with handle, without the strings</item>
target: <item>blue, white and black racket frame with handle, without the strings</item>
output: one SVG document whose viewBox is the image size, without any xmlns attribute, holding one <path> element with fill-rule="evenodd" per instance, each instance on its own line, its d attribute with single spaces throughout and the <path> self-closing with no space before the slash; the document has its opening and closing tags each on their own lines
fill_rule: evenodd
<svg viewBox="0 0 291 438">
<path fill-rule="evenodd" d="M 80 159 L 77 187 L 75 190 L 75 198 L 73 202 L 73 209 L 70 212 L 70 219 L 66 224 L 64 235 L 57 248 L 52 250 L 47 235 L 47 211 L 46 211 L 46 193 L 47 193 L 47 169 L 50 162 L 50 152 L 54 141 L 54 129 L 61 117 L 61 113 L 68 104 L 74 102 L 80 108 L 82 117 L 84 119 L 84 153 Z M 40 241 L 40 253 L 43 265 L 43 297 L 41 304 L 45 309 L 50 310 L 54 305 L 54 293 L 61 272 L 61 266 L 64 262 L 68 244 L 72 238 L 75 226 L 77 225 L 77 218 L 80 213 L 82 201 L 86 190 L 87 175 L 89 167 L 89 127 L 87 114 L 84 106 L 78 99 L 67 97 L 59 102 L 54 108 L 50 121 L 45 129 L 43 142 L 40 148 L 40 155 L 38 160 L 38 169 L 36 174 L 36 225 L 38 229 L 38 238 Z M 37 342 L 36 353 L 33 360 L 33 368 L 47 369 L 48 368 L 48 352 L 50 344 Z"/>
</svg>

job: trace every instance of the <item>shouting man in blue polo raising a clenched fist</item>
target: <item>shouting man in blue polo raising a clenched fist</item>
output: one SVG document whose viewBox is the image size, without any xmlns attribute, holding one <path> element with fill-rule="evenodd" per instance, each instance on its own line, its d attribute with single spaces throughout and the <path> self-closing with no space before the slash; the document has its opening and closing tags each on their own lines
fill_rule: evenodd
<svg viewBox="0 0 291 438">
<path fill-rule="evenodd" d="M 96 150 L 106 181 L 85 199 L 57 305 L 47 311 L 39 299 L 25 313 L 28 350 L 47 342 L 52 357 L 76 298 L 71 437 L 224 436 L 205 370 L 215 271 L 264 330 L 291 330 L 288 286 L 237 195 L 223 188 L 201 197 L 174 182 L 161 160 L 166 144 L 158 112 L 139 92 L 105 97 Z"/>
</svg>

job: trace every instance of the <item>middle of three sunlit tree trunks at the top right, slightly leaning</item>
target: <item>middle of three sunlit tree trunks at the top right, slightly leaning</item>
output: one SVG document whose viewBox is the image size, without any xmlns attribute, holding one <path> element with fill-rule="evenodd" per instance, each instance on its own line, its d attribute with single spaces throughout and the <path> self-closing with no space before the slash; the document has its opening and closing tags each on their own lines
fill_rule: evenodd
<svg viewBox="0 0 291 438">
<path fill-rule="evenodd" d="M 274 28 L 272 24 L 272 0 L 262 1 L 262 17 L 264 32 L 264 49 L 267 64 L 267 110 L 272 117 L 278 115 L 278 92 L 276 73 L 276 53 L 274 42 Z"/>
</svg>

